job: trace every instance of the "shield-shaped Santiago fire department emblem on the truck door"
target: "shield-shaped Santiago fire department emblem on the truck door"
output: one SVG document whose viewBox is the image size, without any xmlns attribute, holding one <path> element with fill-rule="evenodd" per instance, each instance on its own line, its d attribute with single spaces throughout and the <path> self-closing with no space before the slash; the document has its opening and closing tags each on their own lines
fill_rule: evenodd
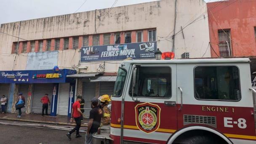
<svg viewBox="0 0 256 144">
<path fill-rule="evenodd" d="M 156 131 L 160 125 L 160 111 L 160 107 L 156 104 L 147 102 L 137 104 L 135 107 L 137 127 L 145 133 Z"/>
</svg>

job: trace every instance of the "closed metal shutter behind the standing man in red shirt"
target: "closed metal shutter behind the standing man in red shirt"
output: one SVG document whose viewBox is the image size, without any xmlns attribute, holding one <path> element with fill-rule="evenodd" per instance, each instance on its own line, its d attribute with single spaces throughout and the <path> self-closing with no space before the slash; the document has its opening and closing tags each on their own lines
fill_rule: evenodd
<svg viewBox="0 0 256 144">
<path fill-rule="evenodd" d="M 32 113 L 42 113 L 43 104 L 41 98 L 48 93 L 48 98 L 51 101 L 51 105 L 48 107 L 48 114 L 51 113 L 52 106 L 52 95 L 53 95 L 53 84 L 52 83 L 37 83 L 35 84 L 33 97 L 32 97 Z"/>
</svg>

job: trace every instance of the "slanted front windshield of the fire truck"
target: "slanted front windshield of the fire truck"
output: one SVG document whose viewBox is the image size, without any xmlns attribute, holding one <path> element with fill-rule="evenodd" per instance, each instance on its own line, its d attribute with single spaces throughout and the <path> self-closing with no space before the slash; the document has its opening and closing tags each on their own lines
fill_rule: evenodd
<svg viewBox="0 0 256 144">
<path fill-rule="evenodd" d="M 114 97 L 119 97 L 122 95 L 123 87 L 125 85 L 125 77 L 127 72 L 123 68 L 118 69 L 117 73 L 117 80 L 115 82 L 115 88 L 114 88 Z"/>
</svg>

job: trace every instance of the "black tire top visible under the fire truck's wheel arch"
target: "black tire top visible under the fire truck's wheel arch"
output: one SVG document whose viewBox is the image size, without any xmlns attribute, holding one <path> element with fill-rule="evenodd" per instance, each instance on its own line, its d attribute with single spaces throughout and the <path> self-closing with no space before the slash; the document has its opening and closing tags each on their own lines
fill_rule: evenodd
<svg viewBox="0 0 256 144">
<path fill-rule="evenodd" d="M 180 144 L 220 144 L 210 136 L 191 136 L 181 141 Z"/>
</svg>

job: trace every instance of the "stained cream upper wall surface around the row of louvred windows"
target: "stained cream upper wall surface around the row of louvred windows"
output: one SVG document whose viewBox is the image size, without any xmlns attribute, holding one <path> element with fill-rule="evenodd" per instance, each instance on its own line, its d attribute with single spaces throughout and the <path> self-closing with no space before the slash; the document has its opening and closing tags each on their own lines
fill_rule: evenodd
<svg viewBox="0 0 256 144">
<path fill-rule="evenodd" d="M 174 5 L 175 0 L 126 5 L 113 8 L 106 18 L 104 16 L 110 8 L 32 19 L 2 24 L 0 31 L 10 35 L 19 35 L 19 37 L 25 40 L 40 40 L 55 37 L 92 35 L 96 32 L 107 33 L 155 28 L 158 40 L 157 48 L 165 52 L 171 51 L 172 47 L 171 35 L 173 35 L 174 27 Z M 206 3 L 203 0 L 178 0 L 176 32 L 181 30 L 181 26 L 187 26 L 187 24 L 206 10 Z M 205 18 L 183 29 L 184 38 L 181 32 L 176 35 L 176 59 L 181 58 L 181 54 L 184 52 L 189 52 L 191 58 L 210 57 L 210 49 L 207 48 L 209 34 L 208 18 L 206 15 L 207 13 Z M 96 19 L 94 19 L 95 17 Z M 101 21 L 103 22 L 101 23 Z M 11 53 L 12 44 L 16 41 L 16 37 L 0 34 L 0 53 L 2 53 L 0 55 L 0 70 L 12 70 L 14 59 L 16 60 L 14 64 L 15 70 L 25 69 L 27 61 L 25 53 L 16 54 L 16 58 L 14 54 L 8 54 Z M 79 59 L 79 50 L 59 51 L 58 66 L 60 68 L 71 68 L 73 65 L 78 65 Z M 105 71 L 117 71 L 119 62 L 109 61 L 106 63 Z M 87 66 L 88 70 L 86 72 L 95 72 L 99 63 L 101 62 L 82 63 L 81 67 Z"/>
</svg>

